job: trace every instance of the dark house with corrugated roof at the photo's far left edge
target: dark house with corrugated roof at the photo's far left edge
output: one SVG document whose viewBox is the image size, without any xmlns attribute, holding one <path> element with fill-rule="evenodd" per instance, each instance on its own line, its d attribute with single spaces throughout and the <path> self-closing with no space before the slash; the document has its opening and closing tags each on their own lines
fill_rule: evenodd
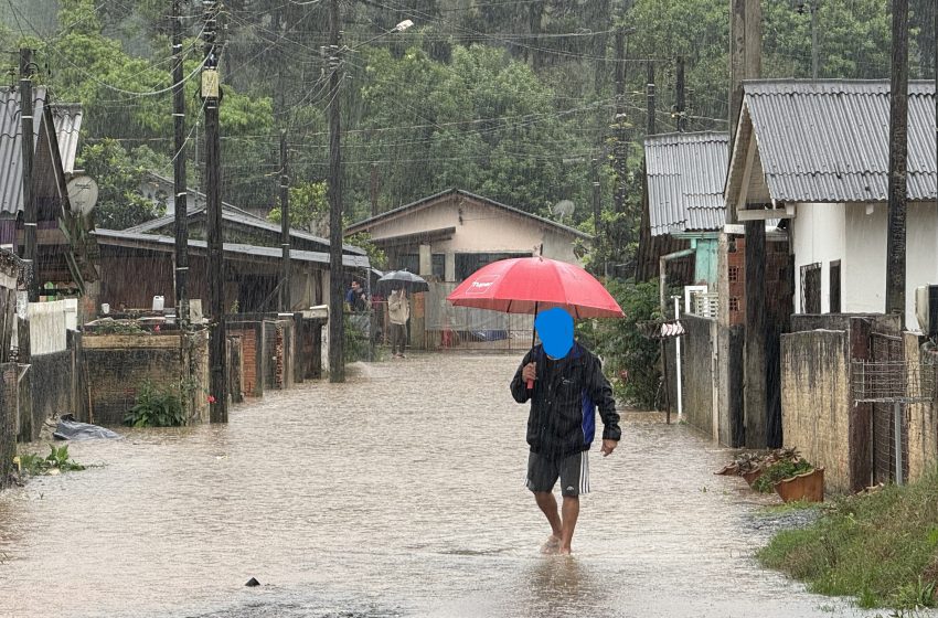
<svg viewBox="0 0 938 618">
<path fill-rule="evenodd" d="M 74 212 L 67 181 L 75 174 L 82 109 L 53 104 L 45 87 L 33 90 L 33 195 L 36 201 L 35 277 L 56 295 L 76 295 L 97 279 L 94 239 Z M 22 255 L 23 152 L 20 93 L 0 88 L 0 245 Z"/>
</svg>

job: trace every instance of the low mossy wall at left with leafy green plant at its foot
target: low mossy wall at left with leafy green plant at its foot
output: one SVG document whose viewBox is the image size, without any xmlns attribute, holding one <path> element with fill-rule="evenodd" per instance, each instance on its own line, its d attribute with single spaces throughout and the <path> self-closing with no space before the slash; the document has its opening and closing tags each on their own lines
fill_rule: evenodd
<svg viewBox="0 0 938 618">
<path fill-rule="evenodd" d="M 209 418 L 207 331 L 184 338 L 178 333 L 85 334 L 82 348 L 82 371 L 87 375 L 83 396 L 89 402 L 86 420 L 120 425 L 145 381 L 179 387 L 190 379 L 192 420 Z"/>
</svg>

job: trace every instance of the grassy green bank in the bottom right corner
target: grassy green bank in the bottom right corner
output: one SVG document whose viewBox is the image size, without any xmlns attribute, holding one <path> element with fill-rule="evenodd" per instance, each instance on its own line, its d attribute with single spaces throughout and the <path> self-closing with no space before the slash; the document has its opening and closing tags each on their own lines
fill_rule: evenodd
<svg viewBox="0 0 938 618">
<path fill-rule="evenodd" d="M 938 470 L 905 487 L 838 499 L 813 524 L 780 532 L 759 561 L 813 593 L 861 607 L 936 605 Z"/>
</svg>

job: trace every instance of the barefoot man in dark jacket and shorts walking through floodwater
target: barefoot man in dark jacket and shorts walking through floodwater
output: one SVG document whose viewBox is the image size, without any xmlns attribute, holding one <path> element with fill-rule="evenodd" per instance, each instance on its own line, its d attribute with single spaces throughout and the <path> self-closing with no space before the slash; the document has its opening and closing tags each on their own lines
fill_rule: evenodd
<svg viewBox="0 0 938 618">
<path fill-rule="evenodd" d="M 599 359 L 574 342 L 573 317 L 559 308 L 548 309 L 537 316 L 534 327 L 542 343 L 521 361 L 511 394 L 520 404 L 531 402 L 526 486 L 551 524 L 542 551 L 569 554 L 579 496 L 589 491 L 587 451 L 596 430 L 596 409 L 604 424 L 604 457 L 616 449 L 621 436 L 619 414 Z M 559 513 L 554 498 L 558 478 Z"/>
</svg>

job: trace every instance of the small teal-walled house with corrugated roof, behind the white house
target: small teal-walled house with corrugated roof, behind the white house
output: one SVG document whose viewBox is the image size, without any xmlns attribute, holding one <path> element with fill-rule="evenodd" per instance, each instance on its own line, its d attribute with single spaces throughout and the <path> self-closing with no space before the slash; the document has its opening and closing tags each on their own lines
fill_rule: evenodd
<svg viewBox="0 0 938 618">
<path fill-rule="evenodd" d="M 673 265 L 669 283 L 700 286 L 703 294 L 697 298 L 715 301 L 729 135 L 703 131 L 649 136 L 644 157 L 638 278 L 658 278 L 660 260 L 669 256 L 665 260 Z M 714 313 L 708 302 L 696 309 Z"/>
</svg>

